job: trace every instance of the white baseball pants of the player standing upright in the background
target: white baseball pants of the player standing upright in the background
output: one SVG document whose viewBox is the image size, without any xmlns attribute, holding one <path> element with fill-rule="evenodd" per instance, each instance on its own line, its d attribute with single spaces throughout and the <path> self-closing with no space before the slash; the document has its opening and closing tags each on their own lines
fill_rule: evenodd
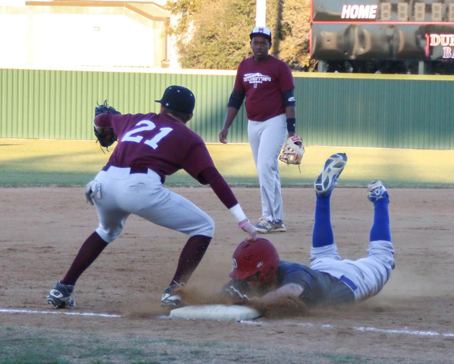
<svg viewBox="0 0 454 364">
<path fill-rule="evenodd" d="M 262 216 L 269 221 L 283 220 L 277 158 L 286 136 L 286 114 L 265 121 L 248 120 L 248 138 L 260 184 Z"/>
</svg>

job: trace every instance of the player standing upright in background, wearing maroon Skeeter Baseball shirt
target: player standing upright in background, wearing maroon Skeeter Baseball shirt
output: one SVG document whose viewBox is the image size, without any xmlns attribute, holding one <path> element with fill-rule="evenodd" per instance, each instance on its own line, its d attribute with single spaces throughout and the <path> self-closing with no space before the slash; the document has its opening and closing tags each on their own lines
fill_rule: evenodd
<svg viewBox="0 0 454 364">
<path fill-rule="evenodd" d="M 227 142 L 229 128 L 246 97 L 248 138 L 262 199 L 262 217 L 255 228 L 260 233 L 284 232 L 277 157 L 287 133 L 302 146 L 301 139 L 295 136 L 295 83 L 290 67 L 268 55 L 271 47 L 269 28 L 253 28 L 250 38 L 253 57 L 238 66 L 219 141 Z"/>
</svg>

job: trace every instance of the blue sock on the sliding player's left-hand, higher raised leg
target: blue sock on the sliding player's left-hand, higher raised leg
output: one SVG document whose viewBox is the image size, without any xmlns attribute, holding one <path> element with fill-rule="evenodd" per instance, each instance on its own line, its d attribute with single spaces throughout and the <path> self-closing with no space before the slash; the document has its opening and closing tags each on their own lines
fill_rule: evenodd
<svg viewBox="0 0 454 364">
<path fill-rule="evenodd" d="M 326 196 L 317 196 L 315 203 L 315 222 L 314 230 L 312 231 L 312 247 L 319 248 L 321 246 L 334 244 L 334 235 L 331 226 L 331 213 L 329 209 L 329 199 L 331 192 Z"/>
</svg>

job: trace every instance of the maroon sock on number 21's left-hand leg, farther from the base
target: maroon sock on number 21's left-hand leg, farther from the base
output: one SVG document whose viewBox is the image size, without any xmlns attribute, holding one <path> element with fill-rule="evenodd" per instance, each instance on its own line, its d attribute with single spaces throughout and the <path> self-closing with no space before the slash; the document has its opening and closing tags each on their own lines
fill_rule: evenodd
<svg viewBox="0 0 454 364">
<path fill-rule="evenodd" d="M 80 275 L 90 267 L 106 246 L 107 242 L 102 240 L 96 231 L 91 234 L 80 247 L 73 264 L 61 282 L 63 284 L 75 284 Z"/>
</svg>

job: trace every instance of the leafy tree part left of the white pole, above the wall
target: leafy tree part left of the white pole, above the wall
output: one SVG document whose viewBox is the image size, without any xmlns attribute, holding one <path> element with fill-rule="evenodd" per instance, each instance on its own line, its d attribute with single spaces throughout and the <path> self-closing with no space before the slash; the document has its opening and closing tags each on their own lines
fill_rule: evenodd
<svg viewBox="0 0 454 364">
<path fill-rule="evenodd" d="M 183 11 L 169 32 L 177 37 L 183 68 L 236 69 L 249 56 L 255 0 L 177 0 L 167 8 Z"/>
</svg>

